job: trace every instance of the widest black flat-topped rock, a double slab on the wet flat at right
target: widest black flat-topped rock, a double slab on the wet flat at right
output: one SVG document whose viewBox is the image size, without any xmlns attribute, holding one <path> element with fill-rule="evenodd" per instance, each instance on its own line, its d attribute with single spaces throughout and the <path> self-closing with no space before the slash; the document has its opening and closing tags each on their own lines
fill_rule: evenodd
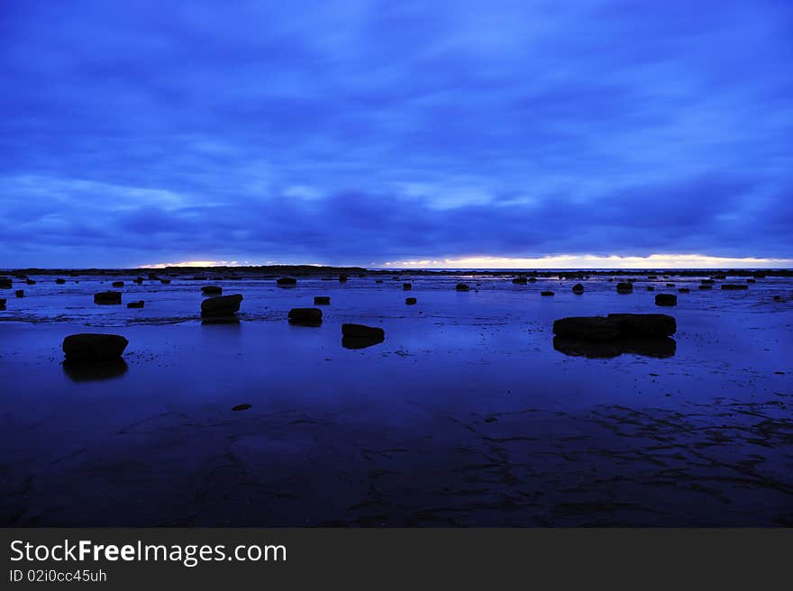
<svg viewBox="0 0 793 591">
<path fill-rule="evenodd" d="M 573 316 L 553 323 L 553 333 L 584 341 L 615 341 L 624 337 L 668 337 L 677 331 L 666 314 L 608 314 Z"/>
</svg>

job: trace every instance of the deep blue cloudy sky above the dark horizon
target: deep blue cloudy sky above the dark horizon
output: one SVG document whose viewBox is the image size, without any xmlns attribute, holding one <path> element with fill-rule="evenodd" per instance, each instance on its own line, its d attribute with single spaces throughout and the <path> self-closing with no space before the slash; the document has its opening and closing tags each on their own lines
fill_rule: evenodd
<svg viewBox="0 0 793 591">
<path fill-rule="evenodd" d="M 0 267 L 793 259 L 791 63 L 787 0 L 2 2 Z"/>
</svg>

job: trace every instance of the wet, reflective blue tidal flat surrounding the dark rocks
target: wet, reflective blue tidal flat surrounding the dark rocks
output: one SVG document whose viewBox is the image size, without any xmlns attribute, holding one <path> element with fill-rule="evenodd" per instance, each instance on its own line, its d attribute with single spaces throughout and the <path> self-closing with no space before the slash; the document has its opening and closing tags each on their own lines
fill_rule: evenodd
<svg viewBox="0 0 793 591">
<path fill-rule="evenodd" d="M 143 309 L 31 277 L 0 293 L 4 525 L 793 525 L 790 277 L 114 277 Z M 202 325 L 205 285 L 239 324 Z M 288 324 L 314 296 L 322 325 Z M 554 347 L 554 320 L 619 312 L 673 315 L 671 351 Z M 123 334 L 123 363 L 64 366 L 74 332 Z"/>
</svg>

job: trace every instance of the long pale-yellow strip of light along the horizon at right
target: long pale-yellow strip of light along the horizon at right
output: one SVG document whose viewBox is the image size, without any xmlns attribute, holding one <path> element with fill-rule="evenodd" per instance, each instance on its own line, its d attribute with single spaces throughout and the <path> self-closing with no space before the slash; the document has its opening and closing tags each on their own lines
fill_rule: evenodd
<svg viewBox="0 0 793 591">
<path fill-rule="evenodd" d="M 699 254 L 652 254 L 647 257 L 617 255 L 559 255 L 533 259 L 469 257 L 465 259 L 415 259 L 387 261 L 386 268 L 787 268 L 793 259 L 708 257 Z"/>
</svg>

